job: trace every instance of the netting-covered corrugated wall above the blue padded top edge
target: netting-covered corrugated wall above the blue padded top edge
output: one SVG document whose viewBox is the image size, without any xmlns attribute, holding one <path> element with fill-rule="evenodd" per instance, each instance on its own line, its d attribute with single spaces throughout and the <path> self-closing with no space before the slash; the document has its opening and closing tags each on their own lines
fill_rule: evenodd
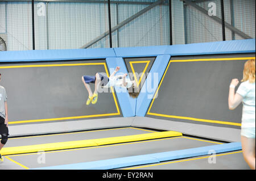
<svg viewBox="0 0 256 181">
<path fill-rule="evenodd" d="M 170 31 L 172 44 L 222 41 L 221 0 L 171 0 L 171 28 L 169 2 L 110 1 L 112 47 L 170 45 Z M 1 1 L 0 49 L 109 48 L 108 13 L 107 0 L 34 1 L 33 24 L 32 1 Z M 255 39 L 254 0 L 224 0 L 224 15 L 226 40 Z"/>
</svg>

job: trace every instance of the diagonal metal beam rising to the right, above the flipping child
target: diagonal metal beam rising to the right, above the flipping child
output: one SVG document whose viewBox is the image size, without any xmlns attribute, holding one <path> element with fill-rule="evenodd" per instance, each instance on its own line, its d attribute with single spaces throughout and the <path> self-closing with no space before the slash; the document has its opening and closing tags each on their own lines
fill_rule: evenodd
<svg viewBox="0 0 256 181">
<path fill-rule="evenodd" d="M 132 20 L 134 20 L 135 18 L 138 18 L 138 16 L 141 16 L 142 14 L 144 14 L 145 12 L 147 12 L 148 10 L 151 10 L 153 7 L 160 5 L 161 3 L 163 3 L 164 0 L 159 0 L 156 1 L 154 3 L 152 3 L 150 6 L 147 6 L 145 9 L 137 12 L 137 14 L 134 14 L 133 16 L 131 16 L 130 18 L 127 18 L 126 20 L 124 20 L 123 22 L 117 24 L 117 26 L 112 28 L 112 32 L 114 32 L 115 30 L 118 30 L 119 28 L 121 28 L 122 26 L 125 26 L 125 24 L 130 23 Z M 84 46 L 82 46 L 81 48 L 88 48 L 90 46 L 92 46 L 94 43 L 97 43 L 97 41 L 100 41 L 101 39 L 103 39 L 104 37 L 109 35 L 109 31 L 106 31 L 105 33 L 102 33 L 102 35 L 96 37 L 95 39 L 93 39 L 92 41 L 90 41 L 89 43 L 85 44 Z"/>
</svg>

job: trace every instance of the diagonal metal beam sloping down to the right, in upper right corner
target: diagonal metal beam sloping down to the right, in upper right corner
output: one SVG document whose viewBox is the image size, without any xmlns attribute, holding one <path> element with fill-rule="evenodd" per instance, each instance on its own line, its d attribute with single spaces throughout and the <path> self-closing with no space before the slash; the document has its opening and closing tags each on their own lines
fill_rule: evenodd
<svg viewBox="0 0 256 181">
<path fill-rule="evenodd" d="M 196 3 L 189 1 L 189 0 L 181 0 L 181 1 L 187 3 L 187 5 L 191 5 L 196 10 L 199 10 L 203 14 L 207 15 L 208 18 L 211 18 L 211 19 L 215 20 L 217 23 L 222 24 L 222 20 L 220 18 L 218 18 L 217 16 L 209 16 L 208 11 L 203 9 L 203 7 L 196 5 Z M 252 39 L 252 37 L 250 37 L 249 35 L 247 35 L 246 33 L 242 32 L 242 31 L 238 30 L 237 28 L 233 27 L 231 24 L 229 24 L 227 22 L 225 22 L 225 27 L 229 28 L 229 30 L 237 33 L 238 35 L 240 35 L 241 37 L 243 37 L 245 39 Z"/>
</svg>

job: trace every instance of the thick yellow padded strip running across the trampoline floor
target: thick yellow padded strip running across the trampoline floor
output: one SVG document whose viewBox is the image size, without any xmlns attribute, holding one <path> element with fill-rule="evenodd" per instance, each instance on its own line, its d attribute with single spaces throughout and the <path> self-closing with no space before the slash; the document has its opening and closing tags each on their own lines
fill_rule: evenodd
<svg viewBox="0 0 256 181">
<path fill-rule="evenodd" d="M 15 146 L 9 148 L 3 148 L 1 150 L 2 155 L 22 154 L 22 153 L 35 153 L 39 151 L 52 151 L 52 150 L 64 150 L 73 148 L 85 148 L 90 146 L 101 146 L 118 144 L 123 142 L 134 142 L 143 140 L 152 140 L 157 138 L 182 136 L 182 133 L 175 131 L 135 134 L 131 136 L 119 136 L 110 138 L 99 138 L 92 140 L 79 140 L 79 141 L 66 141 L 55 142 L 49 144 L 28 145 L 28 146 Z"/>
</svg>

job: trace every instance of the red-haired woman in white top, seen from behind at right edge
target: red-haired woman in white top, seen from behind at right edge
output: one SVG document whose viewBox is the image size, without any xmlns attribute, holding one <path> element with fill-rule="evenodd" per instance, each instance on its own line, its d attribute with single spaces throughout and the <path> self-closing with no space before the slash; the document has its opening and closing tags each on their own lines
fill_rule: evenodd
<svg viewBox="0 0 256 181">
<path fill-rule="evenodd" d="M 235 94 L 238 79 L 232 79 L 229 88 L 229 109 L 234 110 L 241 102 L 241 142 L 243 158 L 255 170 L 255 59 L 245 62 L 243 79 Z"/>
</svg>

